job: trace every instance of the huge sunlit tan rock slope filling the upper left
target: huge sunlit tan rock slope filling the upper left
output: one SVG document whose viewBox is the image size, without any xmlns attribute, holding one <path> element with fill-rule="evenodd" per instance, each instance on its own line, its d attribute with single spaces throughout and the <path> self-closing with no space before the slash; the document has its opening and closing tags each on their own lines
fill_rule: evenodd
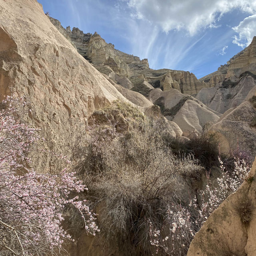
<svg viewBox="0 0 256 256">
<path fill-rule="evenodd" d="M 95 109 L 128 101 L 60 34 L 36 0 L 0 0 L 1 98 L 10 90 L 26 96 L 28 121 L 42 130 L 45 150 L 69 157 Z M 60 167 L 49 154 L 34 157 L 41 171 Z"/>
</svg>

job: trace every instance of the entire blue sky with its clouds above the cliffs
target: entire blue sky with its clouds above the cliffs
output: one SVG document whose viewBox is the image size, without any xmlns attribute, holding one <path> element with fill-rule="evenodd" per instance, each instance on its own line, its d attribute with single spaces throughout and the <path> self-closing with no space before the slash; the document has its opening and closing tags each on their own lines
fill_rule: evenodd
<svg viewBox="0 0 256 256">
<path fill-rule="evenodd" d="M 256 0 L 38 0 L 62 26 L 98 32 L 150 68 L 217 70 L 256 35 Z"/>
</svg>

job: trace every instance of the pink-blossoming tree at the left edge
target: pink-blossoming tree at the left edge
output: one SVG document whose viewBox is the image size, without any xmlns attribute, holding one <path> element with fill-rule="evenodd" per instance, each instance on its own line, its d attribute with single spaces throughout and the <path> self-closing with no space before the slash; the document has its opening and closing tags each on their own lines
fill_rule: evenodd
<svg viewBox="0 0 256 256">
<path fill-rule="evenodd" d="M 0 255 L 55 255 L 71 240 L 62 228 L 67 206 L 81 214 L 86 232 L 95 235 L 98 227 L 86 200 L 79 200 L 87 188 L 75 172 L 40 174 L 27 167 L 41 138 L 20 120 L 26 105 L 23 97 L 7 97 L 0 110 Z"/>
</svg>

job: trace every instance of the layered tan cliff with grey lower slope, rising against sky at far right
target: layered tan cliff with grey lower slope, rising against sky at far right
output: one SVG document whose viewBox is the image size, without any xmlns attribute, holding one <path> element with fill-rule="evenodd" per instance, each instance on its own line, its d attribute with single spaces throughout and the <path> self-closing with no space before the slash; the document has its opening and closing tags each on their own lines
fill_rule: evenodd
<svg viewBox="0 0 256 256">
<path fill-rule="evenodd" d="M 255 74 L 256 36 L 248 47 L 233 56 L 226 65 L 199 79 L 209 88 L 203 88 L 196 98 L 212 110 L 224 113 L 244 102 L 248 92 L 256 86 Z"/>
</svg>

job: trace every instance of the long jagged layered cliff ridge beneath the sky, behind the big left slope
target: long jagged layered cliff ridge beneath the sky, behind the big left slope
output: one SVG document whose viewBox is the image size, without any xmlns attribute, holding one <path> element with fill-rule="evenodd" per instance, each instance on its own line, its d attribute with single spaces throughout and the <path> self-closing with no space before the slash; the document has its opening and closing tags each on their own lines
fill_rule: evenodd
<svg viewBox="0 0 256 256">
<path fill-rule="evenodd" d="M 78 52 L 100 72 L 108 75 L 114 82 L 123 85 L 122 78 L 126 77 L 132 82 L 132 90 L 148 96 L 148 92 L 154 88 L 161 88 L 166 91 L 171 88 L 182 93 L 195 96 L 200 89 L 208 87 L 209 84 L 200 82 L 190 72 L 180 70 L 152 70 L 149 68 L 148 60 L 126 54 L 114 48 L 113 44 L 107 44 L 96 32 L 84 34 L 78 28 L 66 29 L 60 25 L 58 20 L 50 18 L 50 21 L 58 30 L 70 40 Z M 114 72 L 114 75 L 113 75 Z M 138 83 L 137 77 L 143 76 L 143 81 Z M 136 80 L 135 84 L 133 83 Z M 145 83 L 151 84 L 148 87 Z M 124 83 L 126 88 L 127 82 Z"/>
</svg>

